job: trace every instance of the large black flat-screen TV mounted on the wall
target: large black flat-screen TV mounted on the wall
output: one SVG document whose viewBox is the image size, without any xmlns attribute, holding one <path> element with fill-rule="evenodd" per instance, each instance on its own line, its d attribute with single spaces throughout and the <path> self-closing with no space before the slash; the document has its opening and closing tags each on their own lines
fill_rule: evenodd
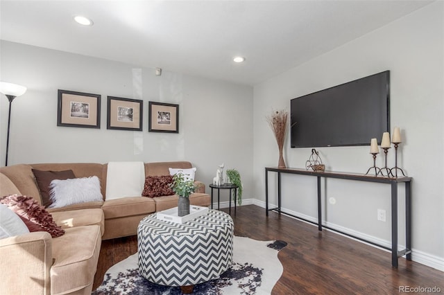
<svg viewBox="0 0 444 295">
<path fill-rule="evenodd" d="M 380 143 L 390 130 L 390 71 L 293 98 L 291 147 Z"/>
</svg>

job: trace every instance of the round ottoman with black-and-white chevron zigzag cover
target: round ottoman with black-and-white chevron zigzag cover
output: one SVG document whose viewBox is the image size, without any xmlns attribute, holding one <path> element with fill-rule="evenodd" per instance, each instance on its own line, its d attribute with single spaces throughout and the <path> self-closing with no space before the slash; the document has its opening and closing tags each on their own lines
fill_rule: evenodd
<svg viewBox="0 0 444 295">
<path fill-rule="evenodd" d="M 233 221 L 222 211 L 184 224 L 148 215 L 137 227 L 139 272 L 152 283 L 192 292 L 232 265 L 233 233 Z"/>
</svg>

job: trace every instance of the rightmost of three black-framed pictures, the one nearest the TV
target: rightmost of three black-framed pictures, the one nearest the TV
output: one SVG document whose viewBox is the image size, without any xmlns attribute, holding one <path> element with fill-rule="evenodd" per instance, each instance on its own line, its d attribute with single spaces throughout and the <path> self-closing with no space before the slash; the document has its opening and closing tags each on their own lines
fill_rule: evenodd
<svg viewBox="0 0 444 295">
<path fill-rule="evenodd" d="M 179 105 L 150 101 L 148 132 L 179 133 Z"/>
</svg>

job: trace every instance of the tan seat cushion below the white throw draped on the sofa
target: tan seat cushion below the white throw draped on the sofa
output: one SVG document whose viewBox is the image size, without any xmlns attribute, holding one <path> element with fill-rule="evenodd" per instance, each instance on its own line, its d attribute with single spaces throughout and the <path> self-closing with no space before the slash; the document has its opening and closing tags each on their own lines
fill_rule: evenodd
<svg viewBox="0 0 444 295">
<path fill-rule="evenodd" d="M 110 199 L 102 206 L 105 219 L 141 215 L 155 212 L 155 202 L 148 197 Z"/>
</svg>

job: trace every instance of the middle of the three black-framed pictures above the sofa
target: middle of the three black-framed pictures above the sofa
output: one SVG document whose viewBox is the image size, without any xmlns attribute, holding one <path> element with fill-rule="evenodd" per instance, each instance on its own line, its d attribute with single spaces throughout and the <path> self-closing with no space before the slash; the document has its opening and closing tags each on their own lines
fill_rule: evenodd
<svg viewBox="0 0 444 295">
<path fill-rule="evenodd" d="M 107 129 L 142 131 L 143 100 L 108 96 Z"/>
</svg>

